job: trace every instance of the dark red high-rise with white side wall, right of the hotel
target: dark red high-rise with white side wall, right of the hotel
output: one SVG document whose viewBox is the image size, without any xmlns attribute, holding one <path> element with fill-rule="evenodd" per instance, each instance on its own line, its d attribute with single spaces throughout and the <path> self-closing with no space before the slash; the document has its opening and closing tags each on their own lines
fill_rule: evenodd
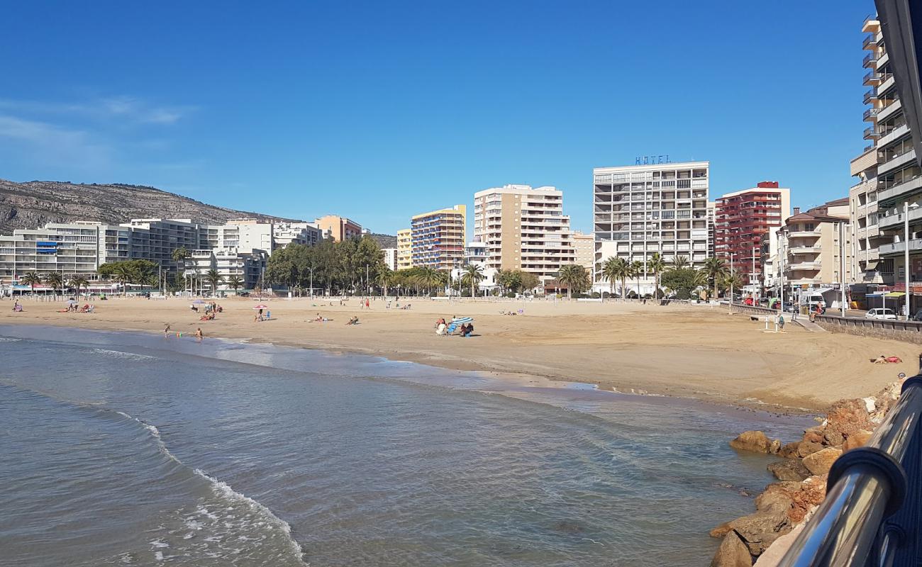
<svg viewBox="0 0 922 567">
<path fill-rule="evenodd" d="M 749 288 L 760 286 L 762 237 L 791 216 L 791 191 L 776 181 L 756 183 L 719 197 L 715 206 L 714 255 L 748 274 Z"/>
</svg>

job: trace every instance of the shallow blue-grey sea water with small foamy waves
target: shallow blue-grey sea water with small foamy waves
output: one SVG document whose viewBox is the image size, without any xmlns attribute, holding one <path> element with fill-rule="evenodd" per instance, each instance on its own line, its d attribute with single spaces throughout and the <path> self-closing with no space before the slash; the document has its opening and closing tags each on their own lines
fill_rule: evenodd
<svg viewBox="0 0 922 567">
<path fill-rule="evenodd" d="M 3 566 L 699 566 L 772 480 L 727 441 L 808 424 L 320 350 L 0 336 Z"/>
</svg>

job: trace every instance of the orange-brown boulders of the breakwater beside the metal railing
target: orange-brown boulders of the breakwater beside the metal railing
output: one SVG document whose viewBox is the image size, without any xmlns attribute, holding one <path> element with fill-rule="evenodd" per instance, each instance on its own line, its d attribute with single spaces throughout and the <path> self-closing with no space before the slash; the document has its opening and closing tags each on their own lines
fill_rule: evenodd
<svg viewBox="0 0 922 567">
<path fill-rule="evenodd" d="M 723 539 L 711 566 L 774 567 L 825 498 L 835 459 L 868 442 L 901 386 L 894 383 L 877 396 L 836 402 L 820 425 L 793 443 L 771 440 L 762 431 L 745 431 L 731 441 L 738 451 L 783 458 L 768 465 L 778 482 L 756 497 L 755 512 L 711 530 L 712 537 Z"/>
</svg>

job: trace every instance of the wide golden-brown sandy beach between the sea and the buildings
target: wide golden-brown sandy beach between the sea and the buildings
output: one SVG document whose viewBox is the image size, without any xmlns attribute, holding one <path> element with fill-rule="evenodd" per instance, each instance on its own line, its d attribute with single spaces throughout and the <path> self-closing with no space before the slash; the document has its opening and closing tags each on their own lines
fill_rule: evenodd
<svg viewBox="0 0 922 567">
<path fill-rule="evenodd" d="M 63 301 L 0 303 L 3 324 L 65 325 L 106 330 L 173 332 L 328 348 L 410 360 L 456 370 L 521 372 L 600 384 L 622 392 L 693 397 L 725 404 L 822 410 L 833 401 L 870 396 L 897 372 L 917 371 L 918 347 L 894 340 L 811 333 L 786 325 L 765 333 L 749 315 L 726 307 L 559 301 L 451 302 L 402 298 L 410 310 L 358 299 L 271 300 L 272 320 L 254 322 L 252 299 L 219 300 L 214 321 L 199 321 L 187 299 L 114 298 L 96 313 L 57 313 Z M 5 307 L 8 306 L 8 307 Z M 517 312 L 508 315 L 501 312 Z M 331 321 L 312 322 L 320 316 Z M 439 337 L 439 317 L 475 318 L 474 337 Z M 358 316 L 360 325 L 346 325 Z M 871 364 L 879 355 L 901 364 Z"/>
</svg>

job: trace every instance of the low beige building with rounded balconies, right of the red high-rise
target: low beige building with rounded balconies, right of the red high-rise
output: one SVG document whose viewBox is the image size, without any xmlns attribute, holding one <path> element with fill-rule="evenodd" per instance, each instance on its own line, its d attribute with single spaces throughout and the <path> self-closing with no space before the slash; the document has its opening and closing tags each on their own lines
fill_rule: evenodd
<svg viewBox="0 0 922 567">
<path fill-rule="evenodd" d="M 835 289 L 848 282 L 852 250 L 848 197 L 804 213 L 795 208 L 794 213 L 780 230 L 786 292 Z"/>
</svg>

